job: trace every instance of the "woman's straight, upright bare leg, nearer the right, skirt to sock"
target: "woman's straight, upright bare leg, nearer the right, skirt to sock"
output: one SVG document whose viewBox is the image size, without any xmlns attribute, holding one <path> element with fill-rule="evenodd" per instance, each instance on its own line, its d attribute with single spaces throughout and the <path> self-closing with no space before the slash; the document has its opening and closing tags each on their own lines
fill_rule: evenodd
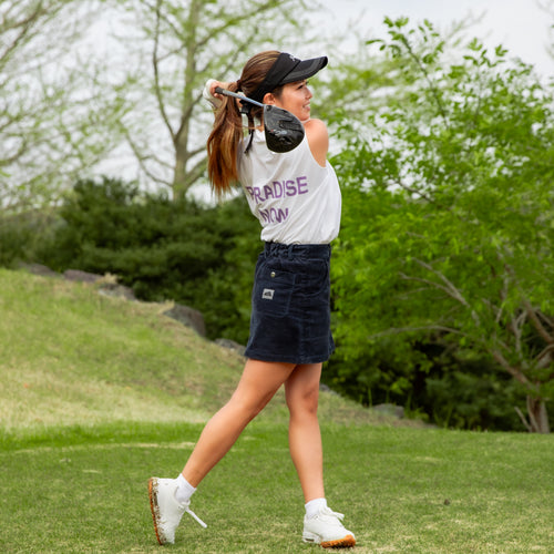
<svg viewBox="0 0 554 554">
<path fill-rule="evenodd" d="M 289 448 L 305 502 L 325 497 L 324 453 L 317 418 L 321 363 L 297 366 L 285 382 Z"/>
</svg>

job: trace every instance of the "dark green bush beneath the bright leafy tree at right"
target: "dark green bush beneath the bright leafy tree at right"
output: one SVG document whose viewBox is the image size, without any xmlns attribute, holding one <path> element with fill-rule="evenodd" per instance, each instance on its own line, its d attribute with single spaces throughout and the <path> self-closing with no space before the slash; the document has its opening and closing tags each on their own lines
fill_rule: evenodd
<svg viewBox="0 0 554 554">
<path fill-rule="evenodd" d="M 429 337 L 367 343 L 358 357 L 337 353 L 324 380 L 363 406 L 394 403 L 440 427 L 524 431 L 515 407 L 525 391 L 486 356 Z"/>
</svg>

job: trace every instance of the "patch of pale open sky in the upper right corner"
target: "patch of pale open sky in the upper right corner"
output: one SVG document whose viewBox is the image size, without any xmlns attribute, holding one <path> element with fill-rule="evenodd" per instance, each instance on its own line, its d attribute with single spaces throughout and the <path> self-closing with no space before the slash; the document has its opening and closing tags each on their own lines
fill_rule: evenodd
<svg viewBox="0 0 554 554">
<path fill-rule="evenodd" d="M 554 16 L 538 6 L 554 0 L 320 0 L 331 12 L 330 24 L 346 27 L 355 22 L 368 38 L 384 38 L 386 16 L 407 16 L 417 22 L 429 19 L 437 28 L 447 29 L 468 16 L 483 16 L 469 34 L 490 47 L 502 44 L 509 57 L 532 63 L 543 76 L 554 75 L 554 59 L 546 52 L 548 28 Z"/>
</svg>

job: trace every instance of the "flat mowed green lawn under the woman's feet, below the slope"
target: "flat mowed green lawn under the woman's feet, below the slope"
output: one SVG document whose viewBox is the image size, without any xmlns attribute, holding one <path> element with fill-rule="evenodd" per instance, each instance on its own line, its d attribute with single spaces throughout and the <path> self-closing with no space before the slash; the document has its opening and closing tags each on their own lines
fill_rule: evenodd
<svg viewBox="0 0 554 554">
<path fill-rule="evenodd" d="M 0 454 L 1 552 L 160 552 L 146 481 L 176 476 L 199 425 L 106 429 Z M 119 437 L 121 434 L 121 437 Z M 552 553 L 550 437 L 324 424 L 330 505 L 363 553 Z M 65 443 L 64 443 L 65 441 Z M 301 553 L 286 427 L 254 422 L 202 483 L 171 552 Z"/>
</svg>

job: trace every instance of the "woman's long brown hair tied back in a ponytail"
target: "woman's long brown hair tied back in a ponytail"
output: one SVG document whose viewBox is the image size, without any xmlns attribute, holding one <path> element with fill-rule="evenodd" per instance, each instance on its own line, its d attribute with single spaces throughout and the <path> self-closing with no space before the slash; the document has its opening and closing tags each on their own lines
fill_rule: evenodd
<svg viewBox="0 0 554 554">
<path fill-rule="evenodd" d="M 230 83 L 228 90 L 242 91 L 246 96 L 254 93 L 279 53 L 276 50 L 268 50 L 250 58 L 243 68 L 240 79 Z M 255 127 L 255 119 L 263 120 L 263 109 L 252 105 L 248 113 L 249 130 Z M 238 181 L 237 153 L 243 137 L 243 117 L 238 101 L 224 96 L 222 105 L 215 111 L 214 127 L 207 140 L 208 178 L 212 189 L 218 197 L 229 192 Z"/>
</svg>

